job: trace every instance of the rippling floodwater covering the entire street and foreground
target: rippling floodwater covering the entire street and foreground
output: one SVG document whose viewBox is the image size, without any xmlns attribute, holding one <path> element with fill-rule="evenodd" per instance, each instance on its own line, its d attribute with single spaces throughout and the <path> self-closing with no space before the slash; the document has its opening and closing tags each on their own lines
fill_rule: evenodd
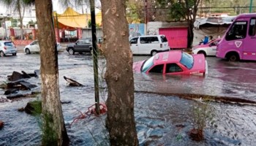
<svg viewBox="0 0 256 146">
<path fill-rule="evenodd" d="M 91 55 L 68 55 L 59 53 L 59 90 L 62 110 L 70 145 L 109 145 L 105 128 L 105 116 L 89 116 L 86 119 L 72 121 L 86 112 L 94 104 L 94 74 Z M 134 56 L 141 61 L 149 56 Z M 193 108 L 200 100 L 189 100 L 179 96 L 167 96 L 161 93 L 185 93 L 217 96 L 256 101 L 256 62 L 227 62 L 219 58 L 208 57 L 208 75 L 202 76 L 162 76 L 159 74 L 134 74 L 135 79 L 135 121 L 140 145 L 242 145 L 253 146 L 256 143 L 256 107 L 255 104 L 230 104 L 220 101 L 205 103 L 211 109 L 211 119 L 206 120 L 201 142 L 189 138 L 189 131 L 195 122 Z M 39 71 L 39 54 L 0 58 L 0 84 L 9 82 L 7 75 L 13 71 L 33 73 Z M 99 72 L 104 70 L 105 61 L 99 59 Z M 83 84 L 83 87 L 70 87 L 64 76 Z M 40 91 L 40 78 L 32 77 L 28 82 L 37 85 L 31 93 Z M 101 85 L 101 83 L 100 83 Z M 103 86 L 105 86 L 103 82 Z M 0 89 L 0 98 L 4 99 L 4 90 Z M 100 91 L 100 101 L 107 99 L 107 89 Z M 25 98 L 18 101 L 0 102 L 0 120 L 4 127 L 0 129 L 0 145 L 40 145 L 42 131 L 37 117 L 18 112 L 28 101 L 39 100 Z"/>
</svg>

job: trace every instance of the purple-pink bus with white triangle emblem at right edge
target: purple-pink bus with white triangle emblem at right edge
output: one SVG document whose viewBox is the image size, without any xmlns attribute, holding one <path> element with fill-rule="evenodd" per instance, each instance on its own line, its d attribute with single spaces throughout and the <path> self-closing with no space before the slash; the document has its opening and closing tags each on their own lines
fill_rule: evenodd
<svg viewBox="0 0 256 146">
<path fill-rule="evenodd" d="M 217 45 L 218 58 L 256 61 L 256 13 L 238 15 Z"/>
</svg>

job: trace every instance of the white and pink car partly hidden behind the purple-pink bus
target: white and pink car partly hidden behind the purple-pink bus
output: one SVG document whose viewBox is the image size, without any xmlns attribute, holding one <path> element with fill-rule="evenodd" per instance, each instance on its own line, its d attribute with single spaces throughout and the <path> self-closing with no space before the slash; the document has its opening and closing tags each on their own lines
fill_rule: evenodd
<svg viewBox="0 0 256 146">
<path fill-rule="evenodd" d="M 216 55 L 217 53 L 217 44 L 220 39 L 214 39 L 211 42 L 208 42 L 206 45 L 196 45 L 192 47 L 192 54 L 203 54 L 203 55 Z"/>
</svg>

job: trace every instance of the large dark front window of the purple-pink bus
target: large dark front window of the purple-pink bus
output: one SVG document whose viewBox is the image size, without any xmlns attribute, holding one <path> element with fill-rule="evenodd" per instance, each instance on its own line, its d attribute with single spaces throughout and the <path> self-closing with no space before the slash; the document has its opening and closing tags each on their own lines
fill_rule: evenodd
<svg viewBox="0 0 256 146">
<path fill-rule="evenodd" d="M 246 37 L 247 23 L 246 21 L 238 21 L 227 32 L 226 40 L 244 39 Z"/>
</svg>

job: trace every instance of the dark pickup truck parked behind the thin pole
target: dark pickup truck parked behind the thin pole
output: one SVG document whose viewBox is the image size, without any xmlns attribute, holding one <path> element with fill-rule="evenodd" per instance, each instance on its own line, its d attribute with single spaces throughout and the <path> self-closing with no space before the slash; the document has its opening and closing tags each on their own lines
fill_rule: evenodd
<svg viewBox="0 0 256 146">
<path fill-rule="evenodd" d="M 102 38 L 97 38 L 98 45 L 102 43 Z M 77 42 L 68 44 L 66 50 L 69 54 L 74 55 L 75 53 L 91 53 L 92 51 L 92 39 L 78 39 Z"/>
</svg>

